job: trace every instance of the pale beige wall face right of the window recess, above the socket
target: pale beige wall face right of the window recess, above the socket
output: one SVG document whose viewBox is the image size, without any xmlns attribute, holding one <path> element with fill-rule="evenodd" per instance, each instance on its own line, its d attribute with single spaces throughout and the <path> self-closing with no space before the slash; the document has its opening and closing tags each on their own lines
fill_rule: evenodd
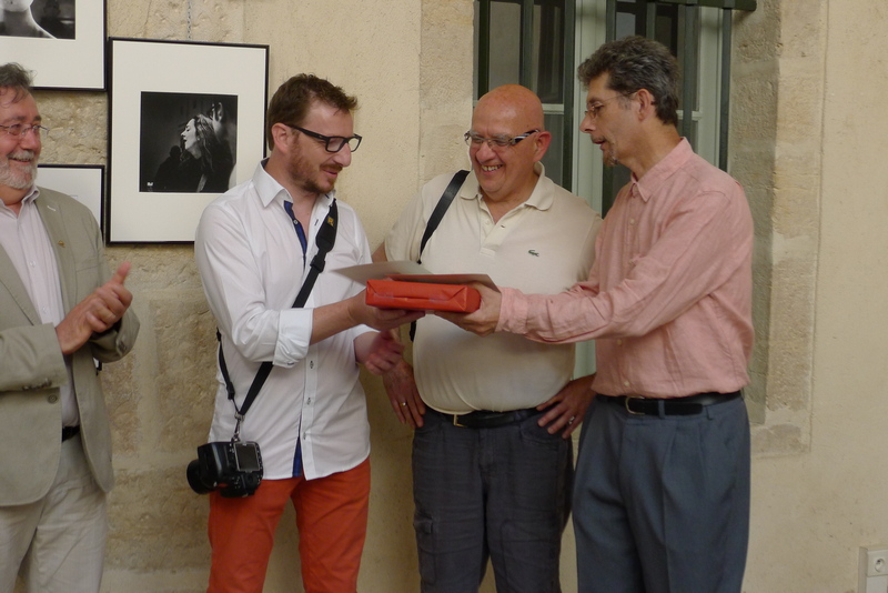
<svg viewBox="0 0 888 593">
<path fill-rule="evenodd" d="M 888 542 L 888 6 L 764 4 L 747 34 L 777 28 L 768 413 L 787 430 L 754 462 L 745 590 L 855 593 L 858 546 Z"/>
</svg>

